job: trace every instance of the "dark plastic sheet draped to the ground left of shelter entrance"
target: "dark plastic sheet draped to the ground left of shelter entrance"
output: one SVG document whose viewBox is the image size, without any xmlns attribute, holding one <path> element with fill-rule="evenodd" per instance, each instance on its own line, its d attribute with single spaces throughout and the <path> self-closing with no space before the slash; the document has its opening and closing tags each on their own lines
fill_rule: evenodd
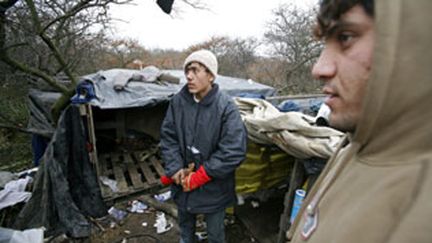
<svg viewBox="0 0 432 243">
<path fill-rule="evenodd" d="M 33 195 L 18 215 L 14 228 L 44 226 L 46 235 L 66 233 L 87 237 L 91 224 L 86 216 L 102 217 L 102 200 L 96 172 L 90 164 L 84 124 L 78 107 L 62 113 L 58 128 L 36 174 Z"/>
</svg>

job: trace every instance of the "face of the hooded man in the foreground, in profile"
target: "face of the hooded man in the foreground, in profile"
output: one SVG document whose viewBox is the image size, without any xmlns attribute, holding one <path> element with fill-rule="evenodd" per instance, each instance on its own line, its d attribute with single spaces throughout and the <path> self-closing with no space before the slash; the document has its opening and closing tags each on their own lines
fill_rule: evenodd
<svg viewBox="0 0 432 243">
<path fill-rule="evenodd" d="M 354 132 L 369 78 L 374 46 L 374 21 L 356 5 L 331 24 L 312 75 L 324 82 L 330 126 Z"/>
</svg>

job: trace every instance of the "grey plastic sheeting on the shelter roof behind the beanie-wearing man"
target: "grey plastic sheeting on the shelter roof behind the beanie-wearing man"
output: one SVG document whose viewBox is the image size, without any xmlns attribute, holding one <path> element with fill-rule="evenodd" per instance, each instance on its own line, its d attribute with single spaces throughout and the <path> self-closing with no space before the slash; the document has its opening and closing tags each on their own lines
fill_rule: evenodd
<svg viewBox="0 0 432 243">
<path fill-rule="evenodd" d="M 116 80 L 119 78 L 130 79 L 133 74 L 139 72 L 139 70 L 130 69 L 110 69 L 83 77 L 83 80 L 88 80 L 94 84 L 97 99 L 93 99 L 89 103 L 101 109 L 153 106 L 168 101 L 186 84 L 183 71 L 162 70 L 161 72 L 180 78 L 180 83 L 131 81 L 122 91 L 114 89 Z M 219 84 L 221 90 L 231 96 L 241 96 L 247 93 L 269 97 L 275 94 L 273 87 L 252 80 L 218 75 L 215 82 Z"/>
</svg>

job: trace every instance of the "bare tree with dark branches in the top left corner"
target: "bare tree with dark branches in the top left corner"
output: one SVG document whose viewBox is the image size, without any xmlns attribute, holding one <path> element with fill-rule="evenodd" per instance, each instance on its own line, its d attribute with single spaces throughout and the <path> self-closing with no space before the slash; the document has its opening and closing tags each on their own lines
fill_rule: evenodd
<svg viewBox="0 0 432 243">
<path fill-rule="evenodd" d="M 95 44 L 91 40 L 102 35 L 109 23 L 108 6 L 129 1 L 6 1 L 0 17 L 0 60 L 62 92 L 52 108 L 58 117 L 74 94 L 76 70 L 86 47 Z M 64 73 L 71 85 L 58 82 L 54 78 L 58 73 Z"/>
</svg>

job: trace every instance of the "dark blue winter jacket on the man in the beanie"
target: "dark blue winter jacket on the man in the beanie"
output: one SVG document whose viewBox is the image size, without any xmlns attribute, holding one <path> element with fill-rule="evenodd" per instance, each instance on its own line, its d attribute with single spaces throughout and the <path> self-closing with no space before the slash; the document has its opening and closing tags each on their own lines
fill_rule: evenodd
<svg viewBox="0 0 432 243">
<path fill-rule="evenodd" d="M 187 86 L 172 98 L 161 127 L 165 173 L 171 177 L 193 162 L 212 178 L 191 192 L 173 184 L 179 210 L 211 213 L 235 203 L 235 169 L 245 158 L 246 140 L 237 106 L 217 84 L 199 103 Z"/>
</svg>

